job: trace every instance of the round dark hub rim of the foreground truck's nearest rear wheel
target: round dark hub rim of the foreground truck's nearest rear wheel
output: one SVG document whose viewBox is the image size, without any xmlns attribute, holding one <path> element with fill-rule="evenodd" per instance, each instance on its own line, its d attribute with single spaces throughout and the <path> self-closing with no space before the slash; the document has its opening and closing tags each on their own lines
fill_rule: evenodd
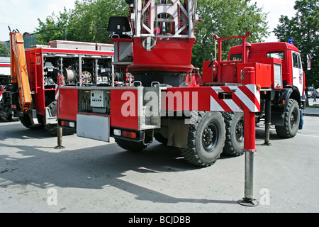
<svg viewBox="0 0 319 227">
<path fill-rule="evenodd" d="M 203 130 L 202 142 L 203 148 L 207 152 L 212 152 L 216 148 L 218 141 L 218 128 L 216 123 L 208 123 L 208 125 Z"/>
</svg>

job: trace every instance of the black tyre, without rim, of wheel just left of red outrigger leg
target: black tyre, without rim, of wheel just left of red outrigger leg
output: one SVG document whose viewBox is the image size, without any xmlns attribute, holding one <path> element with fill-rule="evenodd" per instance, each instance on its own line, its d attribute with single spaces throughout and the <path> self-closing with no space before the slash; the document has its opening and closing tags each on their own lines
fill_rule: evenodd
<svg viewBox="0 0 319 227">
<path fill-rule="evenodd" d="M 223 113 L 225 121 L 226 139 L 225 146 L 223 148 L 224 155 L 240 156 L 244 154 L 244 143 L 240 143 L 235 136 L 235 127 L 237 123 L 243 118 L 244 114 L 241 113 Z"/>
</svg>

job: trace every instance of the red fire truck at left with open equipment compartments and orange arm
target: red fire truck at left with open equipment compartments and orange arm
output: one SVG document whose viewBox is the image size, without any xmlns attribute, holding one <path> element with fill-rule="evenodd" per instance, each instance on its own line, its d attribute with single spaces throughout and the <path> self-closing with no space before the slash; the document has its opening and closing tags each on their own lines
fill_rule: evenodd
<svg viewBox="0 0 319 227">
<path fill-rule="evenodd" d="M 6 120 L 18 116 L 27 128 L 45 127 L 56 134 L 58 77 L 72 87 L 123 84 L 121 69 L 113 81 L 113 55 L 110 44 L 62 40 L 24 50 L 21 33 L 11 32 L 11 81 L 1 86 L 0 115 Z"/>
</svg>

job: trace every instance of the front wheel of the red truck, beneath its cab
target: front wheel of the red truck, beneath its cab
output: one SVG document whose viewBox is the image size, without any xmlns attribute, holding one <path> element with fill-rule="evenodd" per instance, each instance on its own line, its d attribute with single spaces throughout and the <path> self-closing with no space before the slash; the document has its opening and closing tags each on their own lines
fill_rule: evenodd
<svg viewBox="0 0 319 227">
<path fill-rule="evenodd" d="M 298 132 L 300 122 L 300 111 L 298 102 L 289 99 L 284 113 L 284 126 L 276 126 L 276 133 L 281 138 L 293 138 Z"/>
</svg>

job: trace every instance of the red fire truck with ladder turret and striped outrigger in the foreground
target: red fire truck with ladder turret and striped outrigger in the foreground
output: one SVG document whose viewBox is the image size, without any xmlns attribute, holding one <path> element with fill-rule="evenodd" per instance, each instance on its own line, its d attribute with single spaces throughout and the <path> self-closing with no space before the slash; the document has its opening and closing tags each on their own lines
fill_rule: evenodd
<svg viewBox="0 0 319 227">
<path fill-rule="evenodd" d="M 155 138 L 202 167 L 223 151 L 255 150 L 256 120 L 266 118 L 282 137 L 296 135 L 304 75 L 294 45 L 250 44 L 247 32 L 232 37 L 242 45 L 222 60 L 222 42 L 229 38 L 215 36 L 218 60 L 203 62 L 201 75 L 191 65 L 200 21 L 195 0 L 125 1 L 130 16 L 111 18 L 108 31 L 113 65 L 133 74 L 133 86 L 60 86 L 59 126 L 84 138 L 113 137 L 125 150 L 142 150 Z"/>
</svg>

